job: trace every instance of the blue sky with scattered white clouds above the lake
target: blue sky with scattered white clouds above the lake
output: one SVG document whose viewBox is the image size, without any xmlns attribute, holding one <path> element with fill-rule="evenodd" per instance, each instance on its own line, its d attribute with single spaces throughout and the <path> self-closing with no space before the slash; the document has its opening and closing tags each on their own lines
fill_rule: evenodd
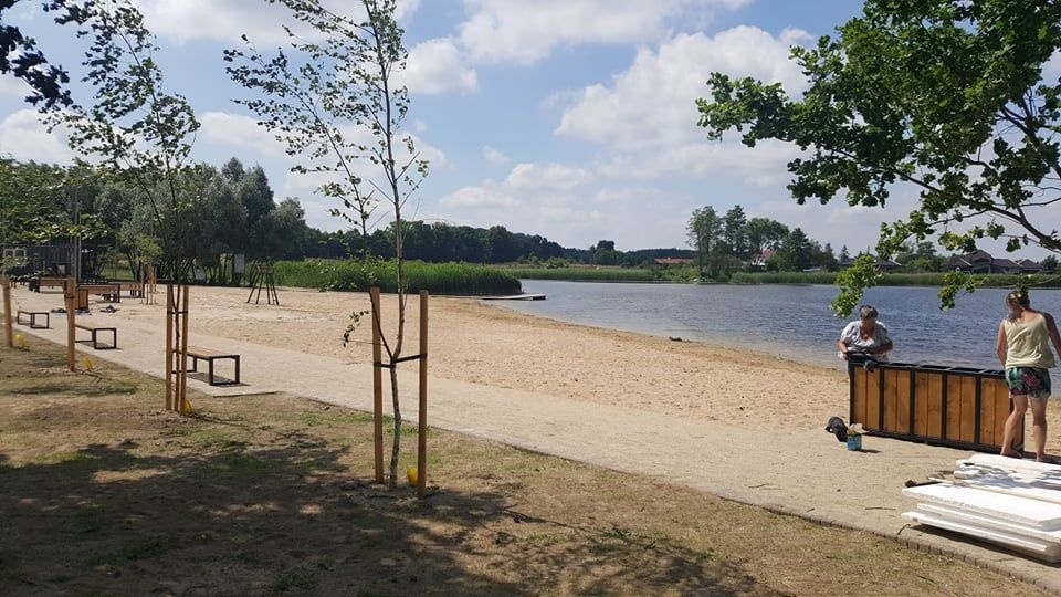
<svg viewBox="0 0 1061 597">
<path fill-rule="evenodd" d="M 136 0 L 157 35 L 168 91 L 202 123 L 193 157 L 221 166 L 261 165 L 277 202 L 300 200 L 309 226 L 339 230 L 316 182 L 288 171 L 284 147 L 234 98 L 248 92 L 224 72 L 224 49 L 246 34 L 259 48 L 285 43 L 283 9 L 262 0 Z M 27 0 L 4 20 L 34 36 L 50 61 L 77 78 L 83 40 Z M 353 4 L 353 2 L 349 2 Z M 346 6 L 346 3 L 336 4 Z M 851 253 L 871 248 L 882 221 L 905 216 L 915 191 L 897 188 L 886 208 L 798 206 L 786 190 L 796 148 L 736 135 L 711 142 L 695 101 L 719 71 L 806 87 L 792 45 L 861 12 L 857 0 L 401 0 L 409 50 L 401 82 L 406 122 L 430 175 L 406 216 L 429 222 L 540 234 L 565 247 L 612 240 L 616 249 L 687 248 L 694 209 L 799 227 Z M 1061 73 L 1061 60 L 1051 61 Z M 1057 76 L 1057 75 L 1054 75 Z M 0 154 L 67 163 L 61 132 L 49 134 L 27 90 L 0 77 Z M 74 88 L 75 100 L 87 100 Z M 1058 220 L 1061 220 L 1059 213 Z M 384 222 L 386 223 L 386 222 Z M 1001 254 L 998 245 L 986 245 Z M 1017 256 L 1047 253 L 1027 249 Z"/>
</svg>

